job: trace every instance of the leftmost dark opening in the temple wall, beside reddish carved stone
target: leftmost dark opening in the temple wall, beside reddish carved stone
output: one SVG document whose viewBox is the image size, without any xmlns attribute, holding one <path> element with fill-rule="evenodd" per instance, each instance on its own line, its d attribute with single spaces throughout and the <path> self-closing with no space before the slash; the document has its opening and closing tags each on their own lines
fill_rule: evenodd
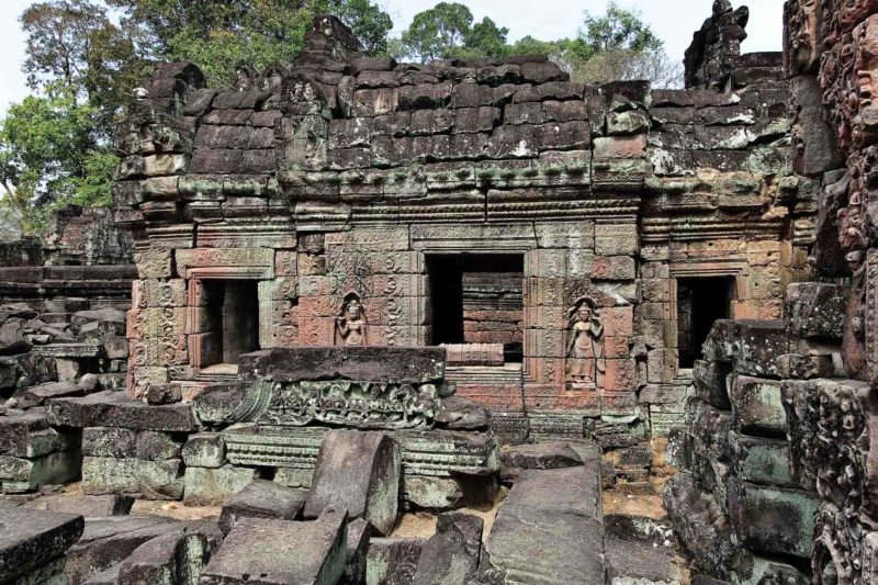
<svg viewBox="0 0 878 585">
<path fill-rule="evenodd" d="M 203 281 L 202 367 L 238 363 L 259 349 L 259 292 L 251 280 Z"/>
</svg>

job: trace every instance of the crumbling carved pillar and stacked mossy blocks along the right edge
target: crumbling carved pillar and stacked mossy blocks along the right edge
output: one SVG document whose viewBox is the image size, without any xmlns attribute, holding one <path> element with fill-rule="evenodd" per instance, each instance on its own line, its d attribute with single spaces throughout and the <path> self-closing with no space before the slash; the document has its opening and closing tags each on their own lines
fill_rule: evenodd
<svg viewBox="0 0 878 585">
<path fill-rule="evenodd" d="M 793 243 L 808 252 L 810 282 L 789 286 L 783 328 L 714 328 L 696 373 L 699 393 L 685 430 L 675 432 L 686 472 L 666 494 L 700 569 L 722 578 L 750 582 L 747 555 L 772 554 L 797 567 L 798 580 L 878 580 L 870 175 L 877 10 L 859 0 L 785 5 L 792 175 L 784 185 L 799 193 L 795 209 L 809 212 Z M 754 352 L 754 341 L 774 349 Z M 759 368 L 740 372 L 754 357 Z M 751 376 L 743 386 L 741 374 Z"/>
</svg>

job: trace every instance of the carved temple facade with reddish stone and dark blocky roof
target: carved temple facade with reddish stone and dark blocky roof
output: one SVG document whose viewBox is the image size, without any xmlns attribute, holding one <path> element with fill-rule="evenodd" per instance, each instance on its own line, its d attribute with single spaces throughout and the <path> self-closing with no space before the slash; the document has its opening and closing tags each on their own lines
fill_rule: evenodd
<svg viewBox="0 0 878 585">
<path fill-rule="evenodd" d="M 237 91 L 160 66 L 120 125 L 115 214 L 140 274 L 134 395 L 215 381 L 198 359 L 205 279 L 259 281 L 263 349 L 424 346 L 434 258 L 518 256 L 522 311 L 503 335 L 522 363 L 451 376 L 503 420 L 579 437 L 600 416 L 679 420 L 678 275 L 733 275 L 736 316 L 780 316 L 808 210 L 780 180 L 777 56 L 734 61 L 747 75 L 729 93 L 584 87 L 540 57 L 361 57 L 333 30 Z M 493 323 L 468 314 L 468 330 Z"/>
</svg>

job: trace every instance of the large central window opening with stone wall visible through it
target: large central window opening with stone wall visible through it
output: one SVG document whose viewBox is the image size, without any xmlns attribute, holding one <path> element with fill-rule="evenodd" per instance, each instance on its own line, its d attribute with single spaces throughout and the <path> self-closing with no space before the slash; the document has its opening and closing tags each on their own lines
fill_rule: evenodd
<svg viewBox="0 0 878 585">
<path fill-rule="evenodd" d="M 427 270 L 432 345 L 503 344 L 507 361 L 521 361 L 524 256 L 428 256 Z"/>
</svg>

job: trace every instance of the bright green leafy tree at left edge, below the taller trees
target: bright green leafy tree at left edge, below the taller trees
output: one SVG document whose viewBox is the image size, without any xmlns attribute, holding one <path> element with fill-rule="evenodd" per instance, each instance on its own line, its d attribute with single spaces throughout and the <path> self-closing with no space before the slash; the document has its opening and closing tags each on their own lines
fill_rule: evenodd
<svg viewBox="0 0 878 585">
<path fill-rule="evenodd" d="M 22 233 L 38 233 L 58 205 L 110 204 L 119 159 L 102 140 L 100 116 L 63 83 L 10 106 L 0 124 L 0 187 Z"/>
</svg>

